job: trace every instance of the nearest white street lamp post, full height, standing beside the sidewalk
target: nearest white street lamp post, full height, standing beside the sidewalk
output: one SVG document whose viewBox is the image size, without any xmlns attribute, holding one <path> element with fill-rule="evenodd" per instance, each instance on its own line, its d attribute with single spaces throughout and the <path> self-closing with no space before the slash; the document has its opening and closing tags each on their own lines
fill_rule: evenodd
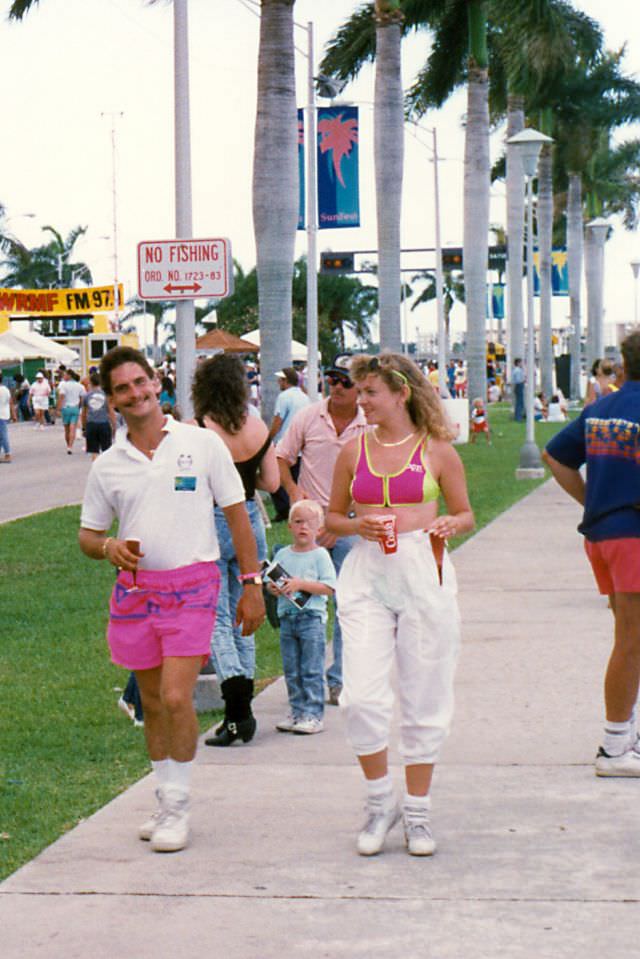
<svg viewBox="0 0 640 959">
<path fill-rule="evenodd" d="M 535 313 L 533 298 L 533 178 L 538 166 L 538 157 L 543 144 L 551 143 L 551 137 L 527 128 L 515 136 L 509 137 L 507 143 L 519 151 L 524 175 L 527 178 L 527 384 L 526 384 L 526 439 L 520 449 L 520 463 L 516 469 L 516 479 L 540 479 L 544 476 L 544 467 L 540 458 L 540 450 L 535 441 L 535 420 L 533 418 L 533 401 L 535 396 L 536 380 L 536 351 L 535 351 Z"/>
</svg>

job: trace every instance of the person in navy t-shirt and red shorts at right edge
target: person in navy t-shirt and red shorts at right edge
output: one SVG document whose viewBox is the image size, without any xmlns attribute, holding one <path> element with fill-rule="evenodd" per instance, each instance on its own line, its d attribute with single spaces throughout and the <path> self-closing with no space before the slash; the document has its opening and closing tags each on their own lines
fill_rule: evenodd
<svg viewBox="0 0 640 959">
<path fill-rule="evenodd" d="M 640 682 L 640 332 L 621 346 L 621 389 L 585 406 L 557 433 L 544 459 L 584 507 L 579 532 L 614 615 L 604 685 L 606 721 L 597 776 L 640 776 L 636 700 Z M 586 483 L 580 468 L 586 463 Z"/>
</svg>

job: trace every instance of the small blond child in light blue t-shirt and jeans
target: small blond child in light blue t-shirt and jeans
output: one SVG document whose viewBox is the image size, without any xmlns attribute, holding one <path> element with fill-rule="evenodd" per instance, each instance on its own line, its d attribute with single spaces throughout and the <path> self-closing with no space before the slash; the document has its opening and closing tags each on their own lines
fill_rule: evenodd
<svg viewBox="0 0 640 959">
<path fill-rule="evenodd" d="M 327 599 L 333 595 L 336 573 L 331 557 L 316 536 L 324 510 L 314 500 L 298 500 L 289 513 L 293 545 L 278 550 L 282 567 L 279 585 L 268 589 L 278 597 L 280 650 L 289 696 L 290 715 L 276 726 L 283 733 L 310 735 L 323 729 L 324 660 L 327 640 Z"/>
</svg>

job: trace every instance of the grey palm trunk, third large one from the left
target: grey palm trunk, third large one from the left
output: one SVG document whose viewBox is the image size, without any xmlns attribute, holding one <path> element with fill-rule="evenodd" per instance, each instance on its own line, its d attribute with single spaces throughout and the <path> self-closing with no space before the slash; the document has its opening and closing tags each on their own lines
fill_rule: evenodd
<svg viewBox="0 0 640 959">
<path fill-rule="evenodd" d="M 464 283 L 468 396 L 486 398 L 486 283 L 489 248 L 488 72 L 469 63 L 464 159 Z"/>
</svg>

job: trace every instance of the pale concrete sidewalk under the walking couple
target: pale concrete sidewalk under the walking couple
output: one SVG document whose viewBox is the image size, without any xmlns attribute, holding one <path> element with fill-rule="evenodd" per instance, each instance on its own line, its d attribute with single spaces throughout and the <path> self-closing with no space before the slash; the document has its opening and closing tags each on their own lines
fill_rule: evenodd
<svg viewBox="0 0 640 959">
<path fill-rule="evenodd" d="M 400 829 L 356 855 L 364 790 L 339 711 L 322 735 L 278 734 L 279 681 L 254 742 L 200 749 L 187 850 L 137 840 L 147 777 L 0 886 L 4 959 L 634 954 L 640 782 L 593 772 L 611 617 L 578 518 L 547 483 L 454 556 L 464 644 L 433 859 Z"/>
</svg>

